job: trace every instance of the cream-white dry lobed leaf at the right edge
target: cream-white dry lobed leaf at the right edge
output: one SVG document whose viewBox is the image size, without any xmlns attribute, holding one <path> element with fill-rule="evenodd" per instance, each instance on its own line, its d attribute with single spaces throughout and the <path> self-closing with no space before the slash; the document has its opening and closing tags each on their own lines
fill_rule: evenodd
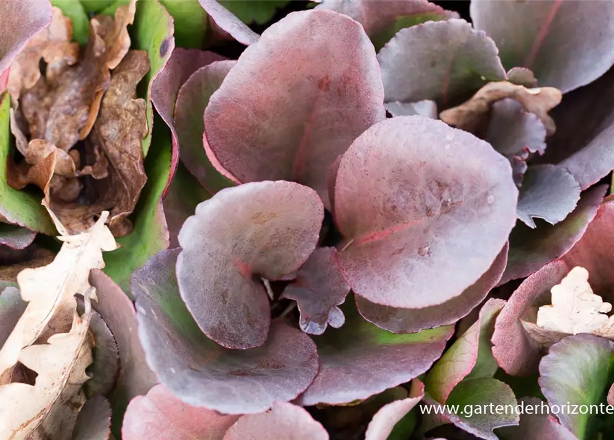
<svg viewBox="0 0 614 440">
<path fill-rule="evenodd" d="M 607 315 L 612 305 L 593 293 L 584 267 L 574 267 L 550 292 L 552 304 L 538 309 L 537 322 L 521 321 L 531 338 L 545 347 L 578 333 L 614 340 L 614 316 Z"/>
</svg>

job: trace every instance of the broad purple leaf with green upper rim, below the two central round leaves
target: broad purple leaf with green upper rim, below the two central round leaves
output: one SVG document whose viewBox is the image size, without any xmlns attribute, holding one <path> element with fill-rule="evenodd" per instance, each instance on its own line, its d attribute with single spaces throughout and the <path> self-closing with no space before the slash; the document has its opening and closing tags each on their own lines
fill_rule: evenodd
<svg viewBox="0 0 614 440">
<path fill-rule="evenodd" d="M 343 311 L 343 327 L 314 337 L 320 371 L 298 398 L 304 406 L 345 404 L 409 382 L 439 358 L 454 331 L 439 327 L 395 335 L 363 320 L 353 301 L 347 301 Z"/>
</svg>

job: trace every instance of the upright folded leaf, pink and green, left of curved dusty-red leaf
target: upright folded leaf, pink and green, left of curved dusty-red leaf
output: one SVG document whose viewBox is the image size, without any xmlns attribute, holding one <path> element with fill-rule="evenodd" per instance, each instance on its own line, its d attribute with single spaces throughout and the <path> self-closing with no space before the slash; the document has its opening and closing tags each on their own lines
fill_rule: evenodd
<svg viewBox="0 0 614 440">
<path fill-rule="evenodd" d="M 435 363 L 424 380 L 430 397 L 445 404 L 450 393 L 465 378 L 494 375 L 498 367 L 490 351 L 490 338 L 494 320 L 503 305 L 504 300 L 487 300 L 480 309 L 478 320 Z"/>
</svg>

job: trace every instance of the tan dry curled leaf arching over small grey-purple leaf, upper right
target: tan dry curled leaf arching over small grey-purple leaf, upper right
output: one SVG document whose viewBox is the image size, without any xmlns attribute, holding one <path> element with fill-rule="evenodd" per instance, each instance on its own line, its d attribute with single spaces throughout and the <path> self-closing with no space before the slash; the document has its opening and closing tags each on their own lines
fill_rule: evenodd
<svg viewBox="0 0 614 440">
<path fill-rule="evenodd" d="M 490 113 L 492 104 L 503 98 L 514 98 L 523 104 L 526 111 L 534 113 L 546 127 L 548 135 L 552 135 L 556 130 L 554 120 L 548 112 L 560 103 L 560 90 L 554 87 L 527 89 L 507 81 L 488 83 L 470 100 L 439 113 L 439 118 L 446 124 L 475 133 Z"/>
</svg>

